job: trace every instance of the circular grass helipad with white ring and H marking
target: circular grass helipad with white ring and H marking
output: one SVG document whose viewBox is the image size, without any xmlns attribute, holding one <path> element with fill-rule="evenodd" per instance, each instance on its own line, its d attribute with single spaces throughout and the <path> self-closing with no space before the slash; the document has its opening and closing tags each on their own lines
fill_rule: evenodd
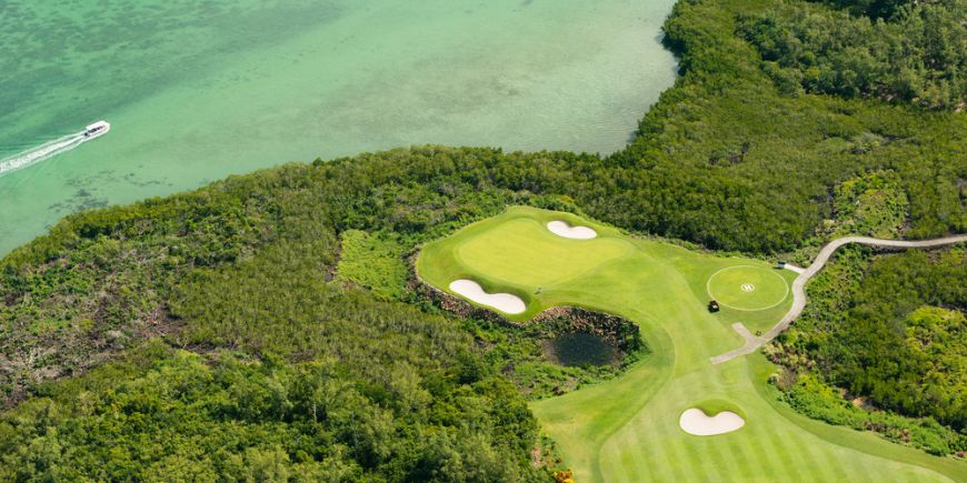
<svg viewBox="0 0 967 483">
<path fill-rule="evenodd" d="M 708 294 L 720 305 L 755 311 L 770 309 L 789 295 L 789 284 L 775 270 L 754 265 L 727 266 L 708 279 Z"/>
</svg>

